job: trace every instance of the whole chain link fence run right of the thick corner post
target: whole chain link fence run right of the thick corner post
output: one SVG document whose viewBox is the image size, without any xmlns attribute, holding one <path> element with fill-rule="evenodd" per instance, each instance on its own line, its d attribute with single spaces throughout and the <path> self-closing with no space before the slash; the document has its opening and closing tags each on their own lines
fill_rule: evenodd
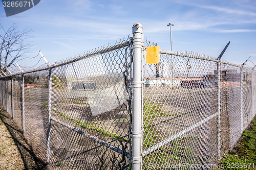
<svg viewBox="0 0 256 170">
<path fill-rule="evenodd" d="M 256 71 L 163 50 L 143 71 L 143 169 L 217 168 L 255 115 Z"/>
</svg>

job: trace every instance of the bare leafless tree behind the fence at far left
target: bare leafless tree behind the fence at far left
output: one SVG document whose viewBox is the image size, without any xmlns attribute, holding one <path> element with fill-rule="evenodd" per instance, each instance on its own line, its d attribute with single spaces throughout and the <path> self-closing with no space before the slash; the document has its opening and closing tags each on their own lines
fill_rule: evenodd
<svg viewBox="0 0 256 170">
<path fill-rule="evenodd" d="M 18 31 L 15 23 L 7 30 L 0 24 L 0 71 L 6 72 L 6 68 L 15 64 L 17 59 L 22 58 L 28 52 L 28 48 L 31 47 L 27 43 L 30 37 L 29 32 Z"/>
</svg>

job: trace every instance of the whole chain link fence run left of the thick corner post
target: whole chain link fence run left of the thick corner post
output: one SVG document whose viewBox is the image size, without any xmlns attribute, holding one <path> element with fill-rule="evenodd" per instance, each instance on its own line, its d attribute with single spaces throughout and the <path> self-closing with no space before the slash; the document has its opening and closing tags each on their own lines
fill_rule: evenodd
<svg viewBox="0 0 256 170">
<path fill-rule="evenodd" d="M 1 102 L 49 169 L 130 166 L 129 44 L 1 78 Z"/>
</svg>

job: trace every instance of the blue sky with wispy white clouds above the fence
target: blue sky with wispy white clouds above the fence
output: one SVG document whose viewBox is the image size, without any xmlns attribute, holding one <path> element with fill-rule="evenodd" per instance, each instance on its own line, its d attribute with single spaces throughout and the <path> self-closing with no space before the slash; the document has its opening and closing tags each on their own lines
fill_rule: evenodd
<svg viewBox="0 0 256 170">
<path fill-rule="evenodd" d="M 218 57 L 230 41 L 223 60 L 242 64 L 249 56 L 256 64 L 256 1 L 254 0 L 170 0 L 170 1 L 50 1 L 6 17 L 0 7 L 0 23 L 8 28 L 15 22 L 19 30 L 32 30 L 33 43 L 26 57 L 37 50 L 50 63 L 83 54 L 94 48 L 132 34 L 140 22 L 144 38 L 170 49 L 172 27 L 173 51 L 194 51 Z M 32 66 L 38 58 L 19 61 Z M 43 64 L 40 61 L 39 64 Z M 249 66 L 254 66 L 248 62 Z"/>
</svg>

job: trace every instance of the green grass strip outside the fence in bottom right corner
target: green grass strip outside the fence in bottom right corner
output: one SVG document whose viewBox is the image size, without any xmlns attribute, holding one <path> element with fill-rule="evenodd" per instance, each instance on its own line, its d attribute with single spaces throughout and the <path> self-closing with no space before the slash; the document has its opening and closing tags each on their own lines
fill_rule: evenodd
<svg viewBox="0 0 256 170">
<path fill-rule="evenodd" d="M 230 154 L 224 155 L 219 169 L 256 169 L 256 117 Z"/>
</svg>

